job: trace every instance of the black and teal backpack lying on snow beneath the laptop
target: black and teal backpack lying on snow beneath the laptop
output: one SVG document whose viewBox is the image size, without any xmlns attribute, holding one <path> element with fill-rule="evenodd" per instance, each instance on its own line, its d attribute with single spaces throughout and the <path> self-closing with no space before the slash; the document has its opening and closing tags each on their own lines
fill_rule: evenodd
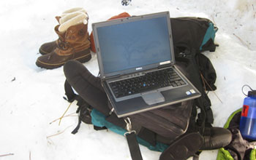
<svg viewBox="0 0 256 160">
<path fill-rule="evenodd" d="M 217 28 L 205 18 L 178 17 L 170 18 L 170 22 L 176 64 L 189 81 L 200 90 L 202 97 L 138 113 L 129 116 L 129 119 L 118 119 L 113 111 L 105 114 L 101 108 L 90 106 L 80 95 L 73 92 L 73 86 L 66 80 L 64 87 L 67 98 L 65 99 L 69 102 L 78 100 L 78 127 L 74 129 L 73 134 L 78 132 L 81 121 L 93 124 L 96 130 L 111 129 L 113 132 L 126 135 L 127 140 L 132 139 L 133 147 L 130 148 L 132 159 L 142 159 L 140 151 L 138 151 L 138 144 L 134 143 L 136 140 L 151 150 L 164 152 L 170 144 L 185 133 L 200 132 L 200 135 L 203 135 L 205 127 L 211 127 L 214 118 L 210 108 L 211 101 L 206 95 L 206 90 L 216 89 L 214 86 L 216 73 L 211 61 L 200 52 L 215 51 L 214 38 Z M 206 83 L 208 85 L 204 85 Z M 197 114 L 197 108 L 200 108 L 199 114 Z M 127 134 L 127 130 L 130 130 L 129 124 L 132 124 L 133 130 L 138 131 L 134 134 L 136 140 L 134 137 L 128 137 L 133 133 Z M 199 148 L 200 146 L 195 151 Z"/>
</svg>

